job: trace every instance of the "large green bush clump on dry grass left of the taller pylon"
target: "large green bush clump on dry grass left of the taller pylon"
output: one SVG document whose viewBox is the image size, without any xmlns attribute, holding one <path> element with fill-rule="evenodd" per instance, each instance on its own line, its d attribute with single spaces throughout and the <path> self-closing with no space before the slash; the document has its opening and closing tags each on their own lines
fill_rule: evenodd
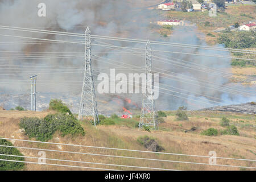
<svg viewBox="0 0 256 182">
<path fill-rule="evenodd" d="M 71 134 L 85 135 L 84 129 L 73 115 L 67 114 L 48 114 L 44 119 L 22 118 L 19 126 L 23 128 L 30 138 L 47 141 L 52 138 L 56 131 L 61 132 L 61 136 Z"/>
</svg>

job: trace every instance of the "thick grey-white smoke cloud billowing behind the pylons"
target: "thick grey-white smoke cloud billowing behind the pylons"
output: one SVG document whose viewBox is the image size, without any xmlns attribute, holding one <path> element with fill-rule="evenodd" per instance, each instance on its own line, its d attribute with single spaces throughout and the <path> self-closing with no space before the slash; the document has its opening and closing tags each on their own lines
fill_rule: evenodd
<svg viewBox="0 0 256 182">
<path fill-rule="evenodd" d="M 196 27 L 177 27 L 169 38 L 160 37 L 156 21 L 162 17 L 154 10 L 137 9 L 133 1 L 67 1 L 45 0 L 47 15 L 40 18 L 36 8 L 41 1 L 0 0 L 0 24 L 4 26 L 68 31 L 83 34 L 89 26 L 93 35 L 117 36 L 171 43 L 207 46 L 198 38 Z M 0 29 L 0 34 L 32 38 L 81 42 L 75 36 L 39 34 L 36 32 Z M 30 80 L 38 75 L 39 110 L 45 109 L 51 98 L 60 98 L 77 111 L 82 89 L 84 46 L 74 43 L 42 43 L 39 40 L 0 36 L 0 103 L 6 109 L 15 105 L 30 108 Z M 5 44 L 8 42 L 9 44 Z M 19 43 L 17 43 L 19 42 Z M 23 43 L 21 43 L 23 42 Z M 93 39 L 92 64 L 97 100 L 102 112 L 139 110 L 142 94 L 98 94 L 97 75 L 144 72 L 144 44 Z M 95 46 L 98 44 L 98 46 Z M 140 48 L 110 48 L 102 45 Z M 233 84 L 222 73 L 230 73 L 230 59 L 196 56 L 162 51 L 199 53 L 228 57 L 229 52 L 208 49 L 161 46 L 152 44 L 152 72 L 159 73 L 159 98 L 156 109 L 176 110 L 184 105 L 189 110 L 216 105 L 241 104 L 255 101 L 255 86 Z M 221 45 L 218 47 L 222 48 Z M 12 51 L 12 52 L 10 52 Z M 14 52 L 16 51 L 16 52 Z M 36 59 L 33 56 L 45 56 Z M 51 56 L 50 56 L 51 55 Z M 55 56 L 53 56 L 55 55 Z M 72 56 L 67 56 L 72 55 Z M 24 57 L 27 56 L 27 57 Z M 64 57 L 65 58 L 61 58 Z M 15 57 L 15 58 L 14 58 Z M 48 58 L 47 58 L 48 57 Z M 21 58 L 21 59 L 20 59 Z M 231 73 L 230 73 L 231 74 Z M 162 88 L 162 89 L 161 89 Z M 228 88 L 228 89 L 227 89 Z M 15 97 L 14 97 L 15 96 Z"/>
</svg>

